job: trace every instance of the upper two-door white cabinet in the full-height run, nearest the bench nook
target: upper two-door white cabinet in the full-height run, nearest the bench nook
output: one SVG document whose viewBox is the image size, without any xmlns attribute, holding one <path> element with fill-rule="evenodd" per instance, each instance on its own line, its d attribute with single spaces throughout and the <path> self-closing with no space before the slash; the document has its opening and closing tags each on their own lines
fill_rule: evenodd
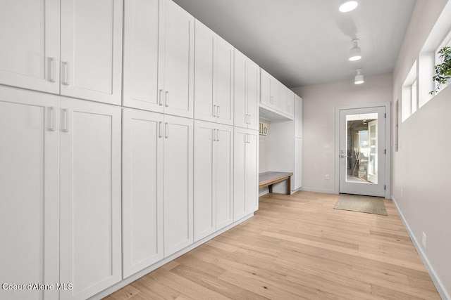
<svg viewBox="0 0 451 300">
<path fill-rule="evenodd" d="M 260 68 L 235 49 L 235 126 L 259 129 Z"/>
</svg>

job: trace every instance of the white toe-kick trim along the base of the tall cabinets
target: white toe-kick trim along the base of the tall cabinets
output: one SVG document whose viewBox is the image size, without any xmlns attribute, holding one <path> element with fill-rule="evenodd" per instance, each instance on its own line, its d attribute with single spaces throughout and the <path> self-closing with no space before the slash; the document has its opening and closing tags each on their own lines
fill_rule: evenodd
<svg viewBox="0 0 451 300">
<path fill-rule="evenodd" d="M 89 299 L 90 300 L 102 299 L 102 298 L 108 296 L 109 294 L 116 292 L 118 289 L 125 287 L 125 285 L 129 285 L 131 282 L 133 282 L 139 278 L 142 278 L 144 275 L 151 273 L 153 270 L 156 270 L 157 268 L 163 266 L 164 264 L 166 264 L 170 261 L 173 261 L 174 259 L 178 258 L 178 256 L 182 256 L 183 254 L 190 252 L 192 249 L 200 246 L 201 244 L 204 244 L 205 242 L 211 240 L 212 238 L 214 238 L 218 235 L 221 235 L 221 233 L 225 233 L 230 228 L 233 228 L 233 227 L 237 226 L 238 224 L 246 221 L 247 219 L 252 218 L 252 216 L 254 216 L 254 213 L 249 214 L 249 215 L 245 216 L 244 218 L 236 221 L 235 223 L 230 224 L 229 226 L 226 226 L 225 228 L 216 231 L 216 233 L 212 233 L 208 237 L 204 237 L 202 240 L 199 240 L 199 241 L 195 242 L 194 244 L 191 244 L 190 246 L 188 246 L 184 249 L 181 249 L 179 252 L 175 252 L 171 256 L 168 256 L 165 259 L 162 259 L 161 261 L 154 263 L 152 266 L 144 268 L 143 270 L 140 270 L 139 272 L 129 276 L 128 278 L 124 278 L 123 280 L 121 280 L 121 282 L 116 283 L 116 285 L 113 285 L 113 286 L 109 287 L 108 289 L 104 289 L 102 292 L 99 292 L 99 294 L 95 294 L 94 296 L 90 297 Z"/>
</svg>

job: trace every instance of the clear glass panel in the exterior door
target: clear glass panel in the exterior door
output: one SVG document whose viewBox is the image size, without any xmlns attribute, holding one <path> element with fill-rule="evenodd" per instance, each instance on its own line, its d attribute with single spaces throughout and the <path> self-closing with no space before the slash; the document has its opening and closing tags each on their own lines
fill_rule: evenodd
<svg viewBox="0 0 451 300">
<path fill-rule="evenodd" d="M 346 116 L 346 181 L 378 183 L 378 114 Z"/>
</svg>

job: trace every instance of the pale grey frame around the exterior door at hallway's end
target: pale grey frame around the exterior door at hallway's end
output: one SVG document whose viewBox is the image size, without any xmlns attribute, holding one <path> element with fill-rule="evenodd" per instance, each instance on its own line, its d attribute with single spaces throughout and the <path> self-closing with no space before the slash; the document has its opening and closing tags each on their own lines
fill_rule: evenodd
<svg viewBox="0 0 451 300">
<path fill-rule="evenodd" d="M 385 107 L 385 199 L 391 195 L 391 102 L 347 105 L 335 107 L 335 194 L 340 193 L 340 110 Z"/>
</svg>

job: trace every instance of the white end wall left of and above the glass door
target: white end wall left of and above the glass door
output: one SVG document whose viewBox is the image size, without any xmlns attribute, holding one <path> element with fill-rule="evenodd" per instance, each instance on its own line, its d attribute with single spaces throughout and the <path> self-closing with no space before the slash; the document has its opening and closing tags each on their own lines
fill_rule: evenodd
<svg viewBox="0 0 451 300">
<path fill-rule="evenodd" d="M 302 189 L 334 193 L 335 107 L 389 102 L 393 97 L 392 76 L 354 78 L 330 84 L 292 89 L 302 97 Z M 329 180 L 325 179 L 326 174 Z"/>
</svg>

